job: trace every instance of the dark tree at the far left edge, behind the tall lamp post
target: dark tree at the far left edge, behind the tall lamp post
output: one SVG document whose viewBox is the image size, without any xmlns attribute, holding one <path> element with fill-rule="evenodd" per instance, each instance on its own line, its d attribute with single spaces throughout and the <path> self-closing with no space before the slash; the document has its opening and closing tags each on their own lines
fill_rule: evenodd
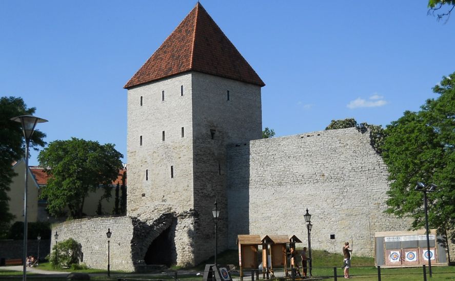
<svg viewBox="0 0 455 281">
<path fill-rule="evenodd" d="M 0 236 L 8 231 L 13 215 L 9 212 L 7 192 L 16 176 L 12 164 L 25 156 L 25 141 L 21 124 L 10 119 L 19 115 L 34 114 L 35 107 L 27 108 L 22 98 L 0 98 Z M 44 146 L 46 134 L 36 130 L 30 147 Z"/>
</svg>

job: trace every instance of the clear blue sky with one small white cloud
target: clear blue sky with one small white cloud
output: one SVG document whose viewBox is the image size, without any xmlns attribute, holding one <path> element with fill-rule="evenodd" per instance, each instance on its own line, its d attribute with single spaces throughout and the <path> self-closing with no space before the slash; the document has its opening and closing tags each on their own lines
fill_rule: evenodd
<svg viewBox="0 0 455 281">
<path fill-rule="evenodd" d="M 36 107 L 47 142 L 113 143 L 127 162 L 123 85 L 195 4 L 0 1 L 0 96 Z M 276 136 L 348 117 L 387 125 L 455 72 L 455 17 L 438 22 L 426 0 L 201 4 L 266 83 Z"/>
</svg>

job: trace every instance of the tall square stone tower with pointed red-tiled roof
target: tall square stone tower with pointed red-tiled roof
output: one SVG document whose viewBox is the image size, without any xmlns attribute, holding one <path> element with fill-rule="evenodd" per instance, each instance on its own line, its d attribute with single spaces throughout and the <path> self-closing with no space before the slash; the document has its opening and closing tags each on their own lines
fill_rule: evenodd
<svg viewBox="0 0 455 281">
<path fill-rule="evenodd" d="M 215 198 L 227 248 L 226 146 L 262 137 L 264 85 L 200 3 L 125 85 L 127 215 L 174 214 L 157 239 L 174 249 L 172 263 L 214 254 Z"/>
</svg>

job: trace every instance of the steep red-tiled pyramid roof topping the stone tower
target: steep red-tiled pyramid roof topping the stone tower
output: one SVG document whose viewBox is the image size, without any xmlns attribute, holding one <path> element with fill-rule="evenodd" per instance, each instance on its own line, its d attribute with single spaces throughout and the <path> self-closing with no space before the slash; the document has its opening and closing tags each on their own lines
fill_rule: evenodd
<svg viewBox="0 0 455 281">
<path fill-rule="evenodd" d="M 265 85 L 198 2 L 124 88 L 191 70 Z"/>
</svg>

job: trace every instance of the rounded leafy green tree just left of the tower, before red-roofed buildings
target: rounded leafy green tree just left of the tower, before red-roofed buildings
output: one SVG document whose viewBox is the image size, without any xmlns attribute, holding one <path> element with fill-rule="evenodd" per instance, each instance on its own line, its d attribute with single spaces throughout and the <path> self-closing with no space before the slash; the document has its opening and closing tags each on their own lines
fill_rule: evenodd
<svg viewBox="0 0 455 281">
<path fill-rule="evenodd" d="M 71 218 L 82 218 L 87 194 L 109 186 L 117 178 L 122 157 L 110 143 L 101 145 L 77 138 L 51 142 L 38 156 L 39 164 L 46 167 L 49 175 L 42 191 L 49 213 L 58 215 L 68 207 Z"/>
</svg>

